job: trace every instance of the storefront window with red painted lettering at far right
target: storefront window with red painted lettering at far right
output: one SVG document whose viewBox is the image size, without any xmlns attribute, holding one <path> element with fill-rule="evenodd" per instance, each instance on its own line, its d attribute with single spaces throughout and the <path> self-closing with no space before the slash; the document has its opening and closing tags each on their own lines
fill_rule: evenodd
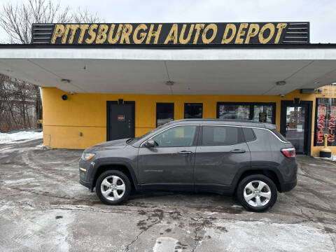
<svg viewBox="0 0 336 252">
<path fill-rule="evenodd" d="M 316 99 L 316 124 L 314 146 L 324 145 L 324 134 L 328 134 L 328 146 L 336 146 L 336 101 Z"/>
</svg>

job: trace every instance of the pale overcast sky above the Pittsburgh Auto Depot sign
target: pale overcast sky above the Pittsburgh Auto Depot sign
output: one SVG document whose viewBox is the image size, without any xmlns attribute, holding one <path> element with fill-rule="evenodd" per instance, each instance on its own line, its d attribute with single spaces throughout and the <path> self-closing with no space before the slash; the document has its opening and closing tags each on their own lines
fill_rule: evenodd
<svg viewBox="0 0 336 252">
<path fill-rule="evenodd" d="M 22 3 L 25 0 L 0 0 Z M 27 1 L 27 0 L 26 0 Z M 59 0 L 52 0 L 57 3 Z M 60 0 L 86 8 L 104 22 L 310 22 L 310 43 L 336 43 L 332 0 Z M 7 36 L 0 28 L 0 41 Z"/>
</svg>

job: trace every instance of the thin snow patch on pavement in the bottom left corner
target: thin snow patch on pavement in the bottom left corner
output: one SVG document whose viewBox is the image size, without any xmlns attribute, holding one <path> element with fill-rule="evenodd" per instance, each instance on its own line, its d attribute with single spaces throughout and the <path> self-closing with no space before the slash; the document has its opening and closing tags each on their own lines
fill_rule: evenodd
<svg viewBox="0 0 336 252">
<path fill-rule="evenodd" d="M 69 251 L 69 241 L 73 239 L 68 228 L 75 216 L 69 210 L 22 211 L 10 206 L 13 214 L 1 223 L 1 230 L 6 230 L 10 242 L 0 239 L 1 251 Z M 6 208 L 0 208 L 0 214 Z M 20 218 L 18 219 L 18 216 Z M 62 218 L 56 218 L 62 216 Z M 13 249 L 13 246 L 15 249 Z"/>
</svg>

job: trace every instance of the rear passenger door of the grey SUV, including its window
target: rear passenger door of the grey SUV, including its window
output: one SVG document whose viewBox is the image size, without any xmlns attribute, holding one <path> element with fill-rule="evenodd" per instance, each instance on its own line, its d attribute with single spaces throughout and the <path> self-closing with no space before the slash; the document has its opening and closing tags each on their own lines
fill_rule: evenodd
<svg viewBox="0 0 336 252">
<path fill-rule="evenodd" d="M 241 127 L 203 125 L 195 156 L 195 189 L 231 190 L 242 167 L 251 167 L 251 155 Z"/>
</svg>

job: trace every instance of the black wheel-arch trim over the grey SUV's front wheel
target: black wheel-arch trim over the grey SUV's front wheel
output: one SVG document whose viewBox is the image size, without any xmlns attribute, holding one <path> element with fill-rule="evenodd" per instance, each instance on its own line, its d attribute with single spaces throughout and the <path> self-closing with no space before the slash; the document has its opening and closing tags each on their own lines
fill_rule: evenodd
<svg viewBox="0 0 336 252">
<path fill-rule="evenodd" d="M 96 176 L 97 172 L 99 171 L 99 168 L 102 166 L 106 166 L 106 165 L 123 165 L 127 168 L 128 172 L 130 172 L 131 176 L 132 176 L 132 181 L 134 184 L 134 187 L 136 190 L 139 189 L 139 183 L 138 183 L 138 179 L 137 176 L 134 172 L 134 169 L 132 167 L 132 165 L 130 164 L 130 162 L 127 162 L 125 160 L 120 161 L 120 158 L 116 159 L 116 158 L 102 158 L 102 160 L 94 160 L 94 165 L 91 165 L 90 167 L 92 169 L 90 172 L 90 190 L 93 191 L 94 185 L 94 177 Z"/>
</svg>

